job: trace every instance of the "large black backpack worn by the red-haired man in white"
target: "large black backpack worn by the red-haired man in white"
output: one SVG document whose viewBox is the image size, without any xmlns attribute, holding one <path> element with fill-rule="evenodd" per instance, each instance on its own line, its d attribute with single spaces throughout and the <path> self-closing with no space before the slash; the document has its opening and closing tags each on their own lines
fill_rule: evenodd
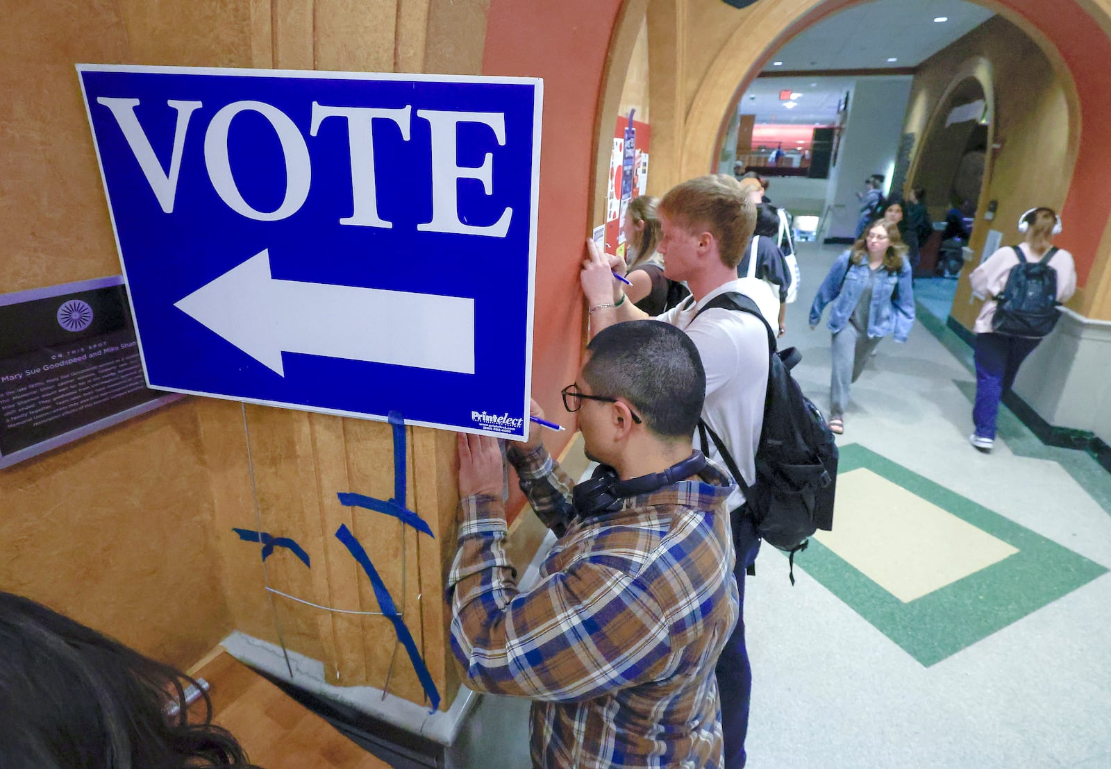
<svg viewBox="0 0 1111 769">
<path fill-rule="evenodd" d="M 731 291 L 712 299 L 698 311 L 711 308 L 748 312 L 768 329 L 770 363 L 764 397 L 763 427 L 757 446 L 755 486 L 744 482 L 724 441 L 699 420 L 702 453 L 708 453 L 707 435 L 713 440 L 733 480 L 744 492 L 745 515 L 765 542 L 790 553 L 791 585 L 794 585 L 794 553 L 804 550 L 817 529 L 833 527 L 833 497 L 837 491 L 838 448 L 822 412 L 802 395 L 791 369 L 802 360 L 793 347 L 777 351 L 775 333 L 749 297 Z"/>
</svg>

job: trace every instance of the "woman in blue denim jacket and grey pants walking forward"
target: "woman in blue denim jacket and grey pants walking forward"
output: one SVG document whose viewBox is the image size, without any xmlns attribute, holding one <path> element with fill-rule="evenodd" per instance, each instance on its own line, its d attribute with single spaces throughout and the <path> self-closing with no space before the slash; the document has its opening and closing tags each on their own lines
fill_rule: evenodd
<svg viewBox="0 0 1111 769">
<path fill-rule="evenodd" d="M 914 322 L 911 267 L 894 222 L 872 222 L 852 248 L 833 262 L 810 306 L 810 328 L 832 303 L 827 327 L 833 332 L 830 377 L 830 430 L 844 431 L 849 386 L 864 369 L 883 337 L 907 341 Z"/>
</svg>

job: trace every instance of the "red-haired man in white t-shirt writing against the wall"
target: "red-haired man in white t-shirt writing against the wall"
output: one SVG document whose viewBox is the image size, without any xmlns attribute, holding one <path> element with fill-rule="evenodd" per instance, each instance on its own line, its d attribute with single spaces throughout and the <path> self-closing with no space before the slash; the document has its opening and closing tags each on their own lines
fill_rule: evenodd
<svg viewBox="0 0 1111 769">
<path fill-rule="evenodd" d="M 757 208 L 741 182 L 724 174 L 689 179 L 671 188 L 659 206 L 662 236 L 659 251 L 672 280 L 684 280 L 691 298 L 658 320 L 682 329 L 691 338 L 705 367 L 705 405 L 702 420 L 721 437 L 723 447 L 747 485 L 755 483 L 755 451 L 763 429 L 768 393 L 769 327 L 760 318 L 710 304 L 725 294 L 744 293 L 737 266 L 749 248 Z M 619 321 L 644 314 L 625 299 L 624 287 L 613 277 L 624 264 L 610 260 L 587 242 L 590 258 L 579 281 L 587 299 L 594 333 Z M 728 461 L 715 441 L 702 448 L 722 467 Z M 702 441 L 699 441 L 699 448 Z M 744 492 L 734 486 L 728 507 L 737 553 L 733 577 L 741 615 L 718 660 L 721 722 L 725 769 L 740 769 L 748 760 L 744 738 L 749 728 L 752 666 L 744 640 L 744 577 L 760 549 L 755 525 L 745 507 Z"/>
</svg>

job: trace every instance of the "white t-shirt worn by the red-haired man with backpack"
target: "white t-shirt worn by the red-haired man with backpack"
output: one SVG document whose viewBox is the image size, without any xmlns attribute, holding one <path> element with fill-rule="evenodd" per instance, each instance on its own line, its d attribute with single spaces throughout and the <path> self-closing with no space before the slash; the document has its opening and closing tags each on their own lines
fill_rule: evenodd
<svg viewBox="0 0 1111 769">
<path fill-rule="evenodd" d="M 702 419 L 721 437 L 744 476 L 744 482 L 752 486 L 768 390 L 768 330 L 759 318 L 721 308 L 707 310 L 691 323 L 700 308 L 727 291 L 743 293 L 741 281 L 723 283 L 697 304 L 683 302 L 657 320 L 685 331 L 698 348 L 705 369 Z M 699 442 L 695 432 L 695 449 L 701 448 Z M 728 472 L 712 440 L 708 456 Z M 744 495 L 738 488 L 729 496 L 729 509 L 735 510 L 743 503 Z"/>
</svg>

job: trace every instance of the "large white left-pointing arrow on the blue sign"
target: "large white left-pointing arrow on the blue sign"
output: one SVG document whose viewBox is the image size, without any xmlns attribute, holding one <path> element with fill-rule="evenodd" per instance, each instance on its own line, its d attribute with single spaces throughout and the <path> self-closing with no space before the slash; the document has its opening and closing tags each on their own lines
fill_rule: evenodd
<svg viewBox="0 0 1111 769">
<path fill-rule="evenodd" d="M 261 251 L 174 303 L 282 377 L 281 353 L 474 373 L 474 300 L 270 277 Z"/>
</svg>

